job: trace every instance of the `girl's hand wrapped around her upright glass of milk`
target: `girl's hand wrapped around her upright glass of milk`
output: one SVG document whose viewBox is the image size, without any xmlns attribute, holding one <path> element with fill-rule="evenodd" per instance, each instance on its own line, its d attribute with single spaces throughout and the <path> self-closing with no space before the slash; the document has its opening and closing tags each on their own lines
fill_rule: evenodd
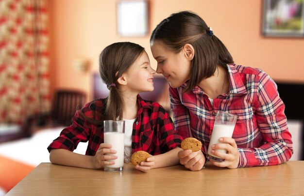
<svg viewBox="0 0 304 196">
<path fill-rule="evenodd" d="M 105 165 L 114 165 L 115 162 L 114 161 L 107 161 L 107 160 L 113 160 L 113 159 L 117 159 L 117 156 L 113 156 L 113 155 L 106 155 L 106 154 L 116 154 L 115 150 L 111 150 L 112 146 L 110 144 L 104 144 L 102 143 L 95 156 L 92 158 L 92 162 L 93 162 L 93 166 L 96 169 L 100 169 L 101 167 L 105 166 Z"/>
</svg>

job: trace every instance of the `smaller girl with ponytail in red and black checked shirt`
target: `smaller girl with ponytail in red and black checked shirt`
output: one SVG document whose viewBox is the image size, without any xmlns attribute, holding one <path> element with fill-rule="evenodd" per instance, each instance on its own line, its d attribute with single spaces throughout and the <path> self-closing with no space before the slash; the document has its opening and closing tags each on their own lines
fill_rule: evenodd
<svg viewBox="0 0 304 196">
<path fill-rule="evenodd" d="M 77 111 L 48 150 L 51 163 L 84 168 L 113 165 L 107 161 L 117 156 L 111 145 L 103 143 L 103 120 L 125 120 L 125 158 L 130 161 L 135 151 L 147 151 L 147 162 L 135 166 L 143 172 L 151 168 L 179 163 L 177 135 L 169 114 L 158 103 L 141 99 L 140 92 L 152 91 L 155 70 L 150 66 L 145 49 L 130 42 L 114 43 L 100 55 L 100 74 L 110 90 L 105 99 L 97 99 Z M 79 142 L 88 141 L 85 155 L 72 152 Z"/>
</svg>

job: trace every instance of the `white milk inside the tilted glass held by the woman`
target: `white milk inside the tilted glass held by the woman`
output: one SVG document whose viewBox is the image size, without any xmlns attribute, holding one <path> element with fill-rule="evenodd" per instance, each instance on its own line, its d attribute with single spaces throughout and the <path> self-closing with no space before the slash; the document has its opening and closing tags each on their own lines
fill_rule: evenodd
<svg viewBox="0 0 304 196">
<path fill-rule="evenodd" d="M 235 129 L 235 125 L 215 124 L 213 127 L 213 131 L 212 131 L 212 135 L 210 138 L 210 143 L 209 143 L 207 153 L 211 156 L 220 158 L 218 156 L 215 156 L 214 154 L 211 154 L 211 146 L 213 144 L 222 143 L 219 141 L 220 137 L 232 137 L 234 129 Z M 217 150 L 217 151 L 227 153 L 227 151 L 225 151 L 225 150 Z"/>
</svg>

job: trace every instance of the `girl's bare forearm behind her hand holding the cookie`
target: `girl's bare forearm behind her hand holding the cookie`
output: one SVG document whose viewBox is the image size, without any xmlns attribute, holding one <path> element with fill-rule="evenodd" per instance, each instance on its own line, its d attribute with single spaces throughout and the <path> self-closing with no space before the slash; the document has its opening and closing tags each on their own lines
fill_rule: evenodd
<svg viewBox="0 0 304 196">
<path fill-rule="evenodd" d="M 155 164 L 152 166 L 152 168 L 178 165 L 179 158 L 177 157 L 177 153 L 181 150 L 181 148 L 176 147 L 175 149 L 172 149 L 164 154 L 155 155 Z"/>
</svg>

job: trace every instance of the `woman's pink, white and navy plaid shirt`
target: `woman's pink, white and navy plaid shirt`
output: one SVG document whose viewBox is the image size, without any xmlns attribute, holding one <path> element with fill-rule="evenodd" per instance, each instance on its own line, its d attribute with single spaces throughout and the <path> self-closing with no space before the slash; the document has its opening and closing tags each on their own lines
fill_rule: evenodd
<svg viewBox="0 0 304 196">
<path fill-rule="evenodd" d="M 176 131 L 183 138 L 201 140 L 206 153 L 216 113 L 226 111 L 238 116 L 232 137 L 240 152 L 239 167 L 286 162 L 293 153 L 292 141 L 276 84 L 259 69 L 235 64 L 227 67 L 230 90 L 214 99 L 213 106 L 198 86 L 186 93 L 182 93 L 186 83 L 170 87 Z"/>
</svg>

